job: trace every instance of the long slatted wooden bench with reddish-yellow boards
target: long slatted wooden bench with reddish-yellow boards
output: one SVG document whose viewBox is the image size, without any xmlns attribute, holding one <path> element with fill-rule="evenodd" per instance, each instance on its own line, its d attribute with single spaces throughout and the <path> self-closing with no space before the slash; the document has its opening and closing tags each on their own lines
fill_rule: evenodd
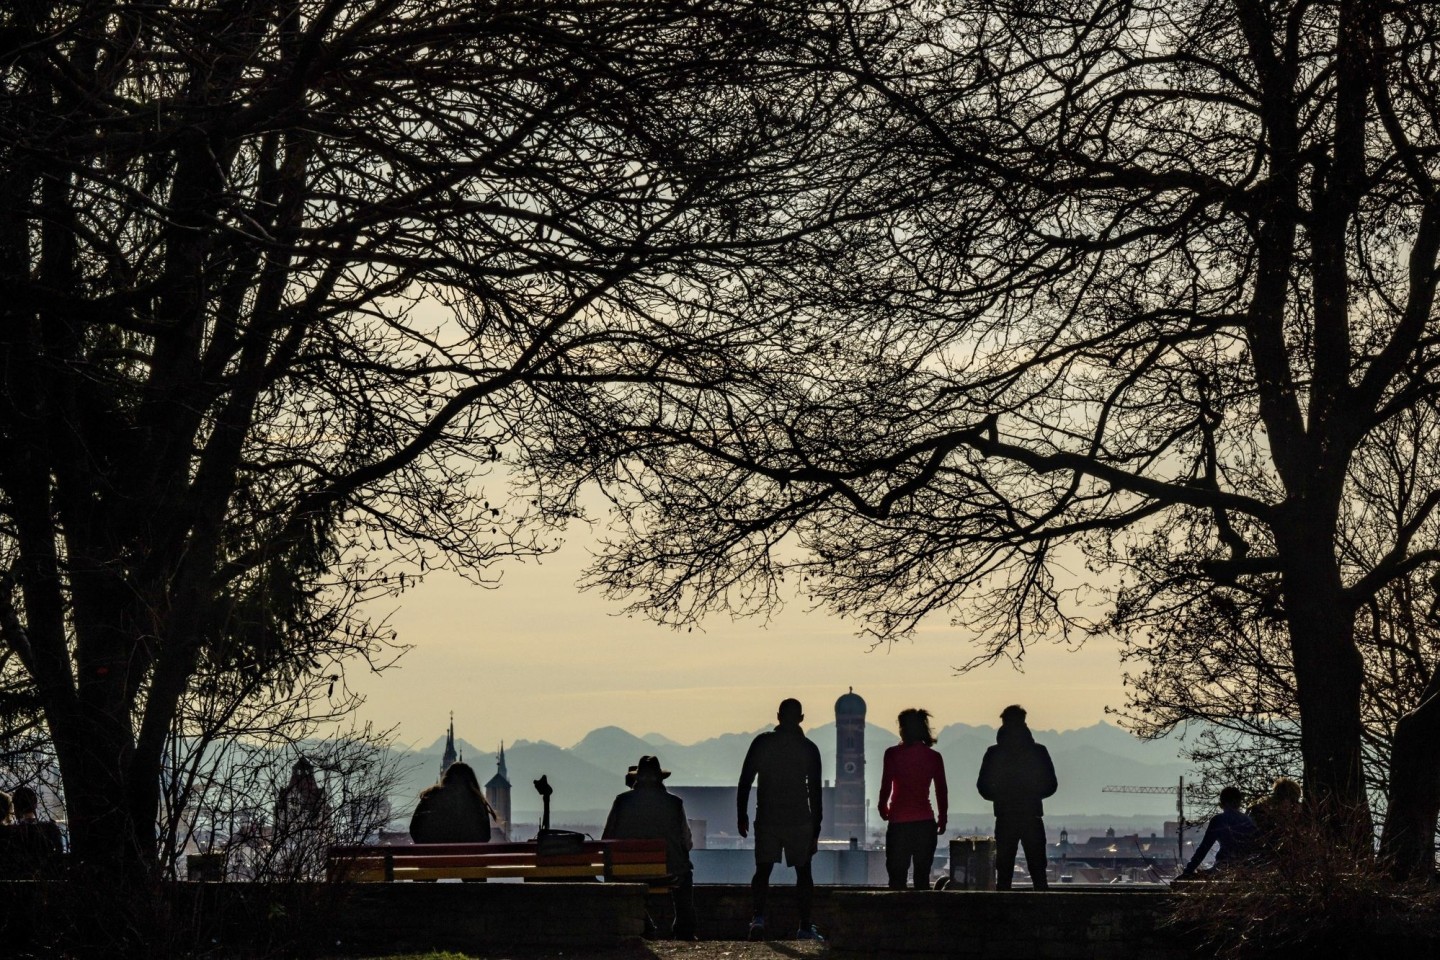
<svg viewBox="0 0 1440 960">
<path fill-rule="evenodd" d="M 585 841 L 577 852 L 541 856 L 534 843 L 410 843 L 403 846 L 331 846 L 331 881 L 403 879 L 628 881 L 668 887 L 664 841 Z"/>
</svg>

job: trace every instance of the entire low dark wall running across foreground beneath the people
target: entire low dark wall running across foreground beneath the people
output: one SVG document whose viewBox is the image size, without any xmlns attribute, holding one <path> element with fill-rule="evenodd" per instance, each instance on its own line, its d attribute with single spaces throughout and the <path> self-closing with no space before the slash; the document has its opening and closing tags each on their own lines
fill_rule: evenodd
<svg viewBox="0 0 1440 960">
<path fill-rule="evenodd" d="M 171 884 L 158 898 L 117 891 L 101 898 L 73 884 L 0 887 L 0 943 L 12 948 L 27 940 L 42 947 L 36 938 L 66 931 L 94 953 L 125 930 L 144 941 L 252 944 L 271 954 L 569 950 L 639 937 L 647 907 L 662 931 L 670 924 L 670 898 L 647 900 L 636 884 Z M 819 887 L 814 920 L 837 960 L 1188 960 L 1192 954 L 1159 925 L 1164 897 Z M 701 940 L 743 940 L 750 888 L 697 887 L 696 908 Z M 795 936 L 793 887 L 770 888 L 768 921 L 770 938 Z"/>
</svg>

